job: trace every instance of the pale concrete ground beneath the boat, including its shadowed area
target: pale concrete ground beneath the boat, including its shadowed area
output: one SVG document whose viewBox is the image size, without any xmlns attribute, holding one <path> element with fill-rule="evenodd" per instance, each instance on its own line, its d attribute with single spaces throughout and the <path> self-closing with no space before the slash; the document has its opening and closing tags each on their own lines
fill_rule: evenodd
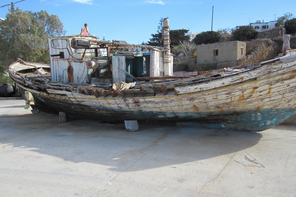
<svg viewBox="0 0 296 197">
<path fill-rule="evenodd" d="M 32 114 L 0 98 L 0 196 L 296 196 L 296 127 L 258 133 Z"/>
</svg>

